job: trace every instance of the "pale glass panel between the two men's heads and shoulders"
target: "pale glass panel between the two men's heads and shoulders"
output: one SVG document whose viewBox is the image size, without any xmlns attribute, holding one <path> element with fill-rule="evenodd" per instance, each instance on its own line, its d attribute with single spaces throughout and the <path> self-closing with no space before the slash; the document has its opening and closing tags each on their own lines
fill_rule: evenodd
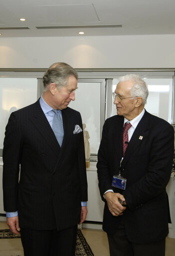
<svg viewBox="0 0 175 256">
<path fill-rule="evenodd" d="M 90 154 L 96 154 L 100 143 L 101 122 L 104 122 L 104 79 L 79 79 L 77 87 L 75 100 L 68 106 L 80 112 L 82 123 L 86 126 L 84 130 L 89 134 Z"/>
</svg>

